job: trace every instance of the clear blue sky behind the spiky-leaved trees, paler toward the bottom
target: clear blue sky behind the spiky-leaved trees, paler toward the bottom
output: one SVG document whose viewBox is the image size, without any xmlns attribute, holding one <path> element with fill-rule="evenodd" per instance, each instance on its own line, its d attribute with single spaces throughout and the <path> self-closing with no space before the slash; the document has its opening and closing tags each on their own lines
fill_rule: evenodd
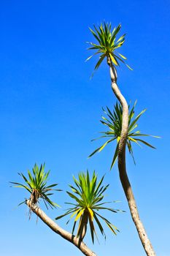
<svg viewBox="0 0 170 256">
<path fill-rule="evenodd" d="M 85 63 L 93 40 L 88 29 L 93 23 L 122 23 L 126 41 L 120 53 L 128 57 L 130 71 L 121 66 L 117 83 L 128 102 L 136 99 L 136 113 L 144 108 L 139 129 L 161 139 L 149 138 L 156 150 L 134 146 L 136 166 L 127 154 L 128 175 L 139 213 L 158 256 L 170 256 L 169 244 L 169 144 L 170 144 L 170 2 L 158 1 L 1 1 L 1 211 L 0 255 L 82 255 L 40 220 L 28 220 L 28 209 L 18 203 L 28 197 L 22 189 L 9 187 L 20 181 L 34 163 L 46 162 L 50 181 L 66 191 L 72 175 L 94 169 L 106 173 L 110 183 L 107 200 L 124 214 L 106 214 L 120 229 L 117 236 L 106 230 L 107 241 L 85 242 L 98 256 L 144 256 L 120 185 L 117 166 L 109 172 L 115 145 L 87 159 L 101 145 L 90 142 L 104 129 L 100 124 L 104 106 L 112 108 L 107 64 L 93 79 L 96 58 Z M 55 218 L 66 208 L 66 192 L 56 192 L 53 200 L 63 208 L 48 211 Z M 58 222 L 66 226 L 66 219 Z M 90 236 L 89 236 L 90 237 Z"/>
</svg>

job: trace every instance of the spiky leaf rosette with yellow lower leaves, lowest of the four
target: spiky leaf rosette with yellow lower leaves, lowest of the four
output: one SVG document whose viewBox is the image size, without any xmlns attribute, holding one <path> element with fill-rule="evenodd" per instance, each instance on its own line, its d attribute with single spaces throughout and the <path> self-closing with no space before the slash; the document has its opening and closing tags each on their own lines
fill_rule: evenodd
<svg viewBox="0 0 170 256">
<path fill-rule="evenodd" d="M 104 206 L 106 203 L 111 203 L 111 202 L 103 202 L 104 192 L 109 187 L 109 184 L 107 186 L 104 186 L 102 184 L 104 180 L 104 176 L 98 182 L 95 171 L 93 172 L 93 176 L 90 179 L 90 176 L 87 170 L 87 173 L 79 173 L 78 179 L 75 177 L 73 178 L 74 178 L 74 186 L 69 185 L 69 187 L 71 187 L 72 189 L 72 192 L 67 191 L 67 193 L 70 197 L 72 197 L 72 199 L 74 200 L 74 203 L 67 203 L 72 207 L 69 208 L 65 214 L 59 217 L 56 217 L 55 219 L 61 219 L 62 217 L 65 217 L 66 215 L 71 214 L 70 219 L 74 217 L 74 225 L 72 228 L 72 233 L 74 233 L 76 224 L 77 222 L 79 222 L 78 229 L 77 229 L 77 236 L 80 236 L 80 238 L 82 238 L 83 230 L 86 230 L 87 225 L 89 224 L 91 238 L 93 242 L 94 242 L 94 234 L 96 235 L 95 223 L 98 226 L 99 230 L 101 231 L 101 234 L 104 237 L 106 237 L 104 233 L 104 228 L 101 225 L 101 222 L 99 219 L 102 219 L 110 228 L 110 230 L 112 230 L 112 233 L 116 234 L 117 227 L 112 225 L 112 223 L 109 222 L 108 219 L 106 219 L 105 217 L 103 217 L 101 214 L 98 213 L 100 210 L 108 210 L 108 211 L 112 211 L 113 213 L 116 213 L 117 211 L 119 211 L 119 210 L 115 210 L 113 208 L 108 208 Z"/>
</svg>

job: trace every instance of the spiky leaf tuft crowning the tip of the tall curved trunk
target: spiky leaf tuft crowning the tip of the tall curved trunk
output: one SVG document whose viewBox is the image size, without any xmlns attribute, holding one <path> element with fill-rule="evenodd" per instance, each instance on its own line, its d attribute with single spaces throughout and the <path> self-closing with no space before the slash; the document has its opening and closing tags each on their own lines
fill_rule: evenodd
<svg viewBox="0 0 170 256">
<path fill-rule="evenodd" d="M 98 26 L 98 28 L 94 25 L 94 29 L 90 29 L 97 42 L 88 42 L 91 45 L 88 50 L 96 50 L 96 53 L 88 57 L 86 61 L 91 59 L 91 57 L 99 54 L 100 56 L 95 66 L 95 70 L 98 69 L 101 62 L 105 58 L 107 58 L 107 61 L 112 61 L 112 64 L 115 66 L 120 66 L 120 62 L 122 62 L 129 69 L 131 69 L 131 67 L 129 67 L 128 64 L 125 63 L 125 60 L 127 58 L 122 54 L 117 53 L 117 48 L 120 48 L 125 42 L 125 34 L 117 39 L 117 34 L 120 29 L 121 24 L 119 24 L 117 27 L 115 27 L 115 29 L 112 30 L 111 23 L 101 23 L 101 26 Z"/>
</svg>

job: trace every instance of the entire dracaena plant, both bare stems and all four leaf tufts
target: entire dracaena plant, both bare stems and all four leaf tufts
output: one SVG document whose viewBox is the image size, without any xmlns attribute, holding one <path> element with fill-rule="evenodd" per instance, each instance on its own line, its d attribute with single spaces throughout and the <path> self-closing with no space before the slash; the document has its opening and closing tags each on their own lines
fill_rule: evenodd
<svg viewBox="0 0 170 256">
<path fill-rule="evenodd" d="M 110 69 L 110 76 L 112 80 L 112 90 L 117 97 L 119 104 L 115 105 L 115 110 L 113 113 L 109 108 L 107 111 L 104 110 L 104 113 L 107 115 L 106 117 L 102 117 L 102 124 L 104 124 L 109 130 L 104 132 L 102 138 L 109 138 L 104 145 L 100 148 L 97 148 L 96 151 L 93 152 L 95 154 L 97 151 L 101 151 L 108 143 L 113 140 L 117 140 L 117 146 L 115 148 L 115 154 L 112 159 L 112 166 L 115 164 L 115 160 L 118 159 L 118 168 L 120 173 L 120 181 L 123 185 L 123 189 L 125 195 L 128 200 L 128 205 L 131 211 L 132 219 L 136 225 L 136 228 L 139 233 L 139 237 L 141 238 L 142 244 L 144 246 L 145 252 L 147 255 L 153 256 L 155 255 L 152 245 L 150 244 L 150 240 L 147 238 L 147 234 L 144 230 L 142 222 L 139 219 L 139 214 L 136 208 L 136 203 L 134 200 L 134 195 L 131 189 L 131 184 L 128 180 L 128 176 L 125 168 L 125 148 L 128 147 L 128 151 L 134 157 L 132 150 L 132 143 L 144 143 L 147 146 L 151 146 L 145 140 L 142 140 L 142 136 L 148 136 L 142 134 L 139 131 L 135 131 L 136 122 L 139 120 L 139 117 L 142 116 L 144 110 L 139 113 L 136 118 L 133 119 L 134 116 L 134 107 L 131 109 L 130 114 L 128 115 L 128 105 L 125 101 L 125 98 L 118 89 L 117 86 L 117 72 L 116 67 L 120 65 L 120 62 L 125 64 L 129 69 L 131 67 L 126 64 L 126 58 L 121 53 L 119 53 L 118 48 L 120 48 L 125 41 L 125 34 L 120 38 L 116 39 L 117 33 L 120 31 L 120 25 L 117 28 L 112 30 L 111 24 L 104 25 L 101 24 L 98 28 L 94 26 L 94 29 L 90 29 L 93 36 L 97 40 L 97 43 L 90 42 L 90 50 L 96 50 L 96 53 L 93 55 L 99 54 L 99 59 L 97 61 L 95 70 L 98 69 L 101 62 L 104 59 L 107 59 L 107 64 Z M 88 59 L 90 59 L 90 56 Z M 93 155 L 91 154 L 91 155 Z M 88 171 L 86 173 L 80 173 L 78 179 L 74 178 L 74 186 L 70 185 L 72 192 L 67 192 L 69 197 L 72 197 L 74 203 L 69 202 L 70 208 L 66 211 L 65 214 L 56 217 L 56 220 L 61 219 L 61 217 L 65 217 L 71 214 L 71 219 L 74 218 L 74 224 L 72 228 L 72 233 L 69 233 L 66 230 L 63 230 L 53 219 L 45 214 L 44 211 L 40 208 L 41 201 L 45 203 L 47 209 L 56 208 L 58 205 L 51 200 L 51 195 L 53 195 L 54 191 L 60 191 L 61 189 L 56 189 L 58 184 L 48 184 L 48 176 L 50 171 L 45 172 L 45 165 L 34 165 L 32 173 L 28 170 L 28 176 L 23 175 L 23 173 L 19 173 L 20 177 L 23 179 L 23 183 L 19 182 L 11 182 L 14 187 L 19 187 L 26 189 L 29 193 L 29 197 L 21 202 L 20 204 L 26 203 L 28 208 L 30 209 L 30 217 L 31 212 L 34 212 L 39 219 L 42 219 L 45 224 L 50 227 L 55 233 L 57 233 L 62 238 L 66 239 L 70 243 L 77 246 L 80 251 L 86 256 L 96 256 L 94 252 L 92 252 L 88 246 L 84 243 L 83 239 L 85 238 L 87 228 L 90 228 L 91 238 L 94 241 L 94 236 L 96 235 L 96 227 L 101 232 L 101 234 L 105 237 L 104 227 L 102 222 L 104 222 L 107 227 L 112 231 L 112 233 L 116 233 L 117 227 L 112 225 L 111 222 L 105 217 L 105 215 L 101 214 L 101 211 L 111 211 L 112 213 L 117 213 L 117 209 L 109 208 L 106 206 L 104 201 L 104 192 L 107 190 L 108 186 L 104 186 L 102 184 L 104 176 L 101 180 L 97 181 L 96 173 L 93 172 L 92 178 Z M 74 230 L 77 227 L 77 234 L 74 235 Z"/>
</svg>

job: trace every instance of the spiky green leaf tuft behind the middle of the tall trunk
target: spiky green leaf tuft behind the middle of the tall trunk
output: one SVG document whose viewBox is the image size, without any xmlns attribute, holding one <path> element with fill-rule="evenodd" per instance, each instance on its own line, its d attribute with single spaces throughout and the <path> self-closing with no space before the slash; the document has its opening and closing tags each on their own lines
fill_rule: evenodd
<svg viewBox="0 0 170 256">
<path fill-rule="evenodd" d="M 139 115 L 137 115 L 135 118 L 134 117 L 134 108 L 135 108 L 136 102 L 134 103 L 134 106 L 131 108 L 129 116 L 128 116 L 128 137 L 126 141 L 126 146 L 128 147 L 128 151 L 131 154 L 131 157 L 134 159 L 134 153 L 133 153 L 133 148 L 132 148 L 132 143 L 136 143 L 140 146 L 140 143 L 145 144 L 146 146 L 149 146 L 150 148 L 155 148 L 154 146 L 150 145 L 150 143 L 147 143 L 145 140 L 141 139 L 141 137 L 155 137 L 155 138 L 160 138 L 158 136 L 153 136 L 153 135 L 146 135 L 141 133 L 139 130 L 135 130 L 136 127 L 138 127 L 137 121 L 139 118 L 142 116 L 142 114 L 146 111 L 146 109 L 142 110 Z M 130 108 L 130 106 L 128 106 Z M 104 109 L 103 109 L 104 110 Z M 115 154 L 112 159 L 112 164 L 110 167 L 110 170 L 112 169 L 113 165 L 115 164 L 115 161 L 117 159 L 117 154 L 118 154 L 118 147 L 119 147 L 119 141 L 120 141 L 120 134 L 122 130 L 122 116 L 123 116 L 123 110 L 122 106 L 118 103 L 114 106 L 113 112 L 107 108 L 107 111 L 104 110 L 104 113 L 107 117 L 101 116 L 101 124 L 104 124 L 109 128 L 107 132 L 101 132 L 103 135 L 99 138 L 109 138 L 107 142 L 105 142 L 102 146 L 97 148 L 95 151 L 93 151 L 92 154 L 90 154 L 89 157 L 92 157 L 93 154 L 96 154 L 96 152 L 100 152 L 104 149 L 107 144 L 111 143 L 112 141 L 116 140 L 117 141 L 117 146 L 115 148 Z M 97 139 L 99 139 L 97 138 Z M 95 139 L 95 140 L 97 140 Z M 134 161 L 135 163 L 135 161 Z"/>
</svg>

